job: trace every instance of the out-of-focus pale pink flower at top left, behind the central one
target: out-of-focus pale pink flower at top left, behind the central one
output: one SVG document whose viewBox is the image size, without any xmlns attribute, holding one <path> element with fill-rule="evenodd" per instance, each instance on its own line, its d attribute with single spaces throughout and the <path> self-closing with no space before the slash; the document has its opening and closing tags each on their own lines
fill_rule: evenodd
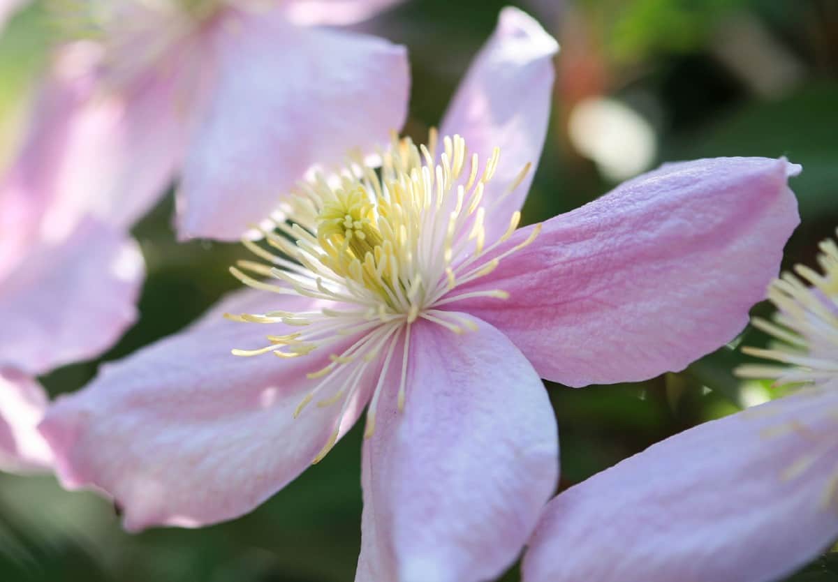
<svg viewBox="0 0 838 582">
<path fill-rule="evenodd" d="M 401 126 L 405 49 L 319 26 L 395 2 L 55 2 L 68 42 L 18 159 L 49 176 L 23 185 L 34 197 L 59 188 L 131 223 L 179 174 L 179 234 L 238 239 L 314 162 L 370 150 Z"/>
</svg>

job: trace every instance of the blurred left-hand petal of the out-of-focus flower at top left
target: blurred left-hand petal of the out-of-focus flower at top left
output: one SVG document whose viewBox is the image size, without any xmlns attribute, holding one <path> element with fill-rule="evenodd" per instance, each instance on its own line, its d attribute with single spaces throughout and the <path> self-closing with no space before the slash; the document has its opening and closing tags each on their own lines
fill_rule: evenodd
<svg viewBox="0 0 838 582">
<path fill-rule="evenodd" d="M 91 44 L 59 53 L 0 184 L 10 222 L 25 211 L 30 231 L 67 233 L 86 214 L 128 227 L 163 194 L 183 147 L 182 79 L 169 67 L 106 92 L 100 66 Z"/>
</svg>

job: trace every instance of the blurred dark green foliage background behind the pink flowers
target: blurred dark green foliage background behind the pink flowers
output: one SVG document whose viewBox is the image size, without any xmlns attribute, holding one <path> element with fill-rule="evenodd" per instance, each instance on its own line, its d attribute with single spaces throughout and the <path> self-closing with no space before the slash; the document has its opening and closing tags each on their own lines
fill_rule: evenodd
<svg viewBox="0 0 838 582">
<path fill-rule="evenodd" d="M 413 0 L 365 23 L 366 31 L 411 50 L 406 134 L 424 141 L 505 4 Z M 838 226 L 838 2 L 512 4 L 540 19 L 562 47 L 551 131 L 525 222 L 577 208 L 660 162 L 784 155 L 804 167 L 792 181 L 803 224 L 789 242 L 786 266 L 814 265 L 817 242 Z M 19 137 L 51 36 L 36 4 L 0 38 L 0 167 Z M 236 288 L 226 267 L 246 253 L 238 245 L 178 245 L 172 214 L 169 195 L 133 231 L 148 271 L 137 325 L 100 360 L 44 377 L 50 394 L 79 389 L 101 361 L 178 331 Z M 765 337 L 748 330 L 739 341 L 761 345 Z M 561 432 L 561 488 L 680 430 L 776 395 L 768 384 L 732 375 L 744 361 L 735 348 L 642 384 L 549 385 Z M 129 535 L 113 507 L 92 494 L 64 492 L 49 476 L 0 475 L 0 580 L 351 580 L 360 547 L 360 437 L 356 427 L 250 515 L 200 530 Z M 504 577 L 517 579 L 516 568 Z M 838 560 L 827 554 L 791 579 L 838 580 Z"/>
</svg>

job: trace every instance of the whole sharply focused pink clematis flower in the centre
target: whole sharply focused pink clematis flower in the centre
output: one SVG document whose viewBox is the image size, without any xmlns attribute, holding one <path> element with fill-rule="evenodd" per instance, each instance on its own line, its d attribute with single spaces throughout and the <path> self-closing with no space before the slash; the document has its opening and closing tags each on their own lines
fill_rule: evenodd
<svg viewBox="0 0 838 582">
<path fill-rule="evenodd" d="M 55 404 L 40 430 L 65 487 L 110 493 L 129 529 L 234 518 L 367 406 L 356 579 L 476 581 L 514 561 L 558 473 L 540 377 L 646 379 L 729 341 L 798 222 L 797 167 L 722 158 L 516 229 L 556 49 L 505 9 L 440 151 L 395 142 L 379 173 L 354 157 L 301 183 L 265 228 L 284 256 L 245 243 L 266 261 L 234 269 L 254 290 Z M 242 321 L 272 335 L 237 360 Z"/>
</svg>

